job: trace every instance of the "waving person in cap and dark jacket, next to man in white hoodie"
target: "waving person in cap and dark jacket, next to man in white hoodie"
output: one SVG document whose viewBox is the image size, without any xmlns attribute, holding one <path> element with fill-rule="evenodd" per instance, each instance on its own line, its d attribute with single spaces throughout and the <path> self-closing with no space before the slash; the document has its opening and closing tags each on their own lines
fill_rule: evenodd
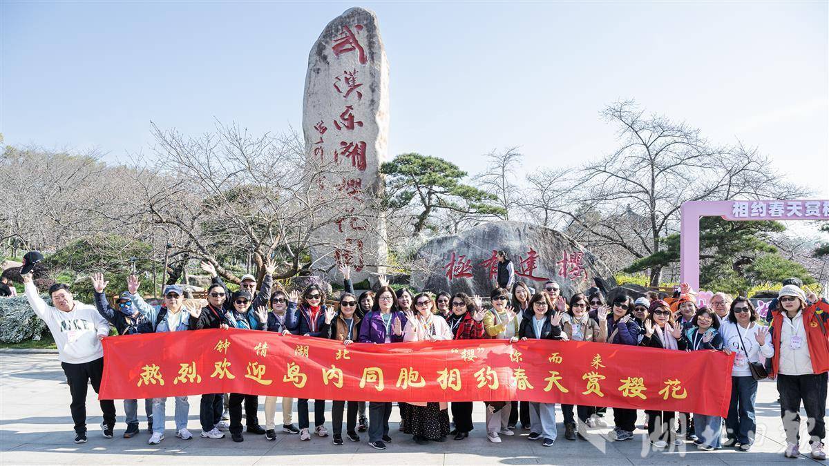
<svg viewBox="0 0 829 466">
<path fill-rule="evenodd" d="M 149 319 L 140 308 L 133 303 L 132 295 L 138 291 L 138 277 L 129 275 L 127 289 L 120 294 L 115 307 L 109 305 L 104 289 L 109 284 L 104 281 L 104 274 L 92 274 L 92 288 L 95 290 L 95 308 L 101 317 L 105 318 L 112 325 L 119 335 L 134 335 L 142 333 L 146 328 Z M 152 330 L 151 330 L 152 331 Z M 147 415 L 147 430 L 153 432 L 153 399 L 143 400 L 144 413 Z M 124 400 L 124 414 L 127 422 L 127 430 L 124 430 L 124 439 L 130 439 L 138 434 L 138 400 Z"/>
</svg>

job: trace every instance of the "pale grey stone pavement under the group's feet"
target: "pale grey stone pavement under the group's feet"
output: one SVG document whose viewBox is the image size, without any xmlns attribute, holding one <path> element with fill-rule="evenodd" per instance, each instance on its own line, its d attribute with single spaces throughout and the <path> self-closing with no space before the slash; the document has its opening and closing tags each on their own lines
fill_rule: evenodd
<svg viewBox="0 0 829 466">
<path fill-rule="evenodd" d="M 298 435 L 281 433 L 272 442 L 263 436 L 246 434 L 245 443 L 234 444 L 229 435 L 219 440 L 199 438 L 198 399 L 194 398 L 189 422 L 194 438 L 175 438 L 172 400 L 168 400 L 167 439 L 160 445 L 148 445 L 149 434 L 145 431 L 132 439 L 122 438 L 124 407 L 119 401 L 115 404 L 119 414 L 115 437 L 104 439 L 98 428 L 100 407 L 90 387 L 87 401 L 90 440 L 76 445 L 72 442 L 69 388 L 56 355 L 2 353 L 0 464 L 820 464 L 806 456 L 797 460 L 783 458 L 783 430 L 778 405 L 774 402 L 777 391 L 773 382 L 768 381 L 760 385 L 757 396 L 759 435 L 749 453 L 734 449 L 701 452 L 691 444 L 675 451 L 652 452 L 647 448 L 642 430 L 636 431 L 635 439 L 622 443 L 605 441 L 602 435 L 607 429 L 593 430 L 595 441 L 568 441 L 563 437 L 561 422 L 561 436 L 552 448 L 527 441 L 526 432 L 503 437 L 502 444 L 491 444 L 484 434 L 482 403 L 475 404 L 475 430 L 463 441 L 448 439 L 443 444 L 414 444 L 409 435 L 397 431 L 400 417 L 395 408 L 391 417 L 394 442 L 385 451 L 371 449 L 366 444 L 367 434 L 363 434 L 366 441 L 346 440 L 339 447 L 331 444 L 330 436 L 325 439 L 314 436 L 310 442 L 301 442 Z M 331 409 L 330 403 L 327 407 Z M 140 403 L 139 414 L 143 415 Z M 558 416 L 560 421 L 560 411 Z M 331 416 L 326 417 L 330 430 Z M 261 412 L 259 419 L 264 420 Z M 279 413 L 277 419 L 281 419 Z M 609 419 L 613 419 L 612 413 Z M 642 421 L 640 411 L 638 425 Z M 145 430 L 144 422 L 141 427 Z"/>
</svg>

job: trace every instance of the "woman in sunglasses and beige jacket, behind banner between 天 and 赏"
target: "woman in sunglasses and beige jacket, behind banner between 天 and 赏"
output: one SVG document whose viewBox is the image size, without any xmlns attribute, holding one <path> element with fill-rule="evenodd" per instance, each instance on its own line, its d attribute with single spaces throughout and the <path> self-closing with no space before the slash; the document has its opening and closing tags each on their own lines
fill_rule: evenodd
<svg viewBox="0 0 829 466">
<path fill-rule="evenodd" d="M 607 321 L 597 323 L 588 314 L 588 301 L 584 294 L 574 294 L 570 298 L 570 308 L 561 316 L 561 330 L 568 339 L 574 342 L 597 342 L 604 343 L 607 340 Z M 565 439 L 574 440 L 576 435 L 579 439 L 586 440 L 587 421 L 594 414 L 594 406 L 579 405 L 576 413 L 579 415 L 579 424 L 573 417 L 573 405 L 561 405 L 561 414 L 565 416 Z"/>
</svg>

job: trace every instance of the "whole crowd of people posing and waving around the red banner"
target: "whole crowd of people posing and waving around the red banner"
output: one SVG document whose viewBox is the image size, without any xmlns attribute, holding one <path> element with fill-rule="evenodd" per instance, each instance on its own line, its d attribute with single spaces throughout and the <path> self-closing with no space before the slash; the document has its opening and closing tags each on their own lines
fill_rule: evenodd
<svg viewBox="0 0 829 466">
<path fill-rule="evenodd" d="M 176 284 L 163 290 L 163 303 L 153 307 L 138 294 L 138 279 L 128 279 L 128 289 L 111 305 L 102 274 L 92 276 L 95 306 L 73 299 L 70 287 L 56 284 L 48 305 L 38 294 L 31 274 L 24 274 L 26 296 L 35 313 L 55 337 L 61 365 L 70 387 L 75 443 L 86 437 L 85 399 L 87 384 L 99 390 L 103 372 L 103 349 L 99 342 L 110 333 L 184 332 L 202 328 L 241 328 L 277 334 L 331 338 L 349 345 L 353 342 L 395 344 L 452 339 L 497 338 L 509 342 L 532 339 L 608 342 L 616 345 L 664 348 L 670 351 L 716 350 L 734 353 L 732 389 L 728 417 L 694 413 L 645 410 L 647 441 L 653 449 L 669 449 L 686 442 L 702 450 L 730 447 L 749 451 L 757 430 L 754 400 L 758 382 L 772 377 L 777 381 L 779 403 L 787 447 L 785 456 L 797 458 L 800 448 L 800 409 L 807 413 L 808 445 L 813 459 L 826 459 L 824 415 L 829 372 L 829 313 L 819 309 L 815 294 L 806 294 L 797 279 L 789 279 L 771 305 L 769 322 L 759 318 L 749 299 L 718 293 L 710 305 L 697 308 L 695 292 L 682 284 L 675 294 L 649 292 L 633 299 L 627 294 L 608 297 L 599 289 L 573 294 L 565 299 L 560 284 L 547 281 L 540 290 L 516 281 L 506 254 L 500 255 L 495 288 L 484 299 L 468 294 L 437 294 L 392 289 L 381 277 L 380 286 L 357 295 L 350 269 L 342 266 L 345 291 L 336 304 L 327 301 L 325 289 L 312 284 L 302 292 L 274 287 L 272 266 L 262 283 L 253 275 L 241 278 L 238 291 L 230 293 L 213 265 L 202 263 L 211 274 L 207 304 L 203 308 L 182 305 L 184 292 Z M 765 364 L 764 364 L 765 362 Z M 327 437 L 326 401 L 313 400 L 313 429 L 309 418 L 310 400 L 296 400 L 298 426 L 293 424 L 294 400 L 283 398 L 282 432 L 298 434 L 309 441 L 313 435 Z M 199 420 L 201 437 L 222 439 L 225 431 L 235 442 L 244 434 L 277 439 L 275 420 L 279 399 L 264 399 L 264 427 L 259 422 L 259 397 L 254 395 L 206 394 L 201 396 Z M 175 433 L 191 439 L 187 396 L 175 397 Z M 100 400 L 104 437 L 111 438 L 115 427 L 115 405 Z M 165 434 L 166 398 L 143 400 L 151 435 L 149 444 L 159 444 Z M 245 410 L 243 422 L 242 410 Z M 463 441 L 474 429 L 473 402 L 398 403 L 400 430 L 417 444 Z M 528 431 L 527 439 L 546 447 L 558 439 L 555 404 L 515 400 L 488 401 L 486 438 L 502 443 L 502 436 Z M 367 433 L 374 449 L 386 449 L 392 442 L 390 402 L 361 400 L 332 401 L 332 443 L 361 440 Z M 589 438 L 589 429 L 609 427 L 608 410 L 602 406 L 561 405 L 564 437 L 578 441 Z M 124 437 L 139 433 L 138 400 L 124 400 Z M 343 435 L 343 418 L 345 434 Z M 613 408 L 613 441 L 633 439 L 638 411 Z M 365 435 L 365 434 L 364 434 Z"/>
</svg>

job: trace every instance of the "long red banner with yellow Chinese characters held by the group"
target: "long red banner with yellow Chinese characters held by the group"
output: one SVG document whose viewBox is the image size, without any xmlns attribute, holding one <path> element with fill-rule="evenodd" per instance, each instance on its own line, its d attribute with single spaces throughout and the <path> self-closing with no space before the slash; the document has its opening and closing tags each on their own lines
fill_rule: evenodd
<svg viewBox="0 0 829 466">
<path fill-rule="evenodd" d="M 250 330 L 104 338 L 102 399 L 528 400 L 727 415 L 734 356 L 594 342 L 353 343 Z"/>
</svg>

